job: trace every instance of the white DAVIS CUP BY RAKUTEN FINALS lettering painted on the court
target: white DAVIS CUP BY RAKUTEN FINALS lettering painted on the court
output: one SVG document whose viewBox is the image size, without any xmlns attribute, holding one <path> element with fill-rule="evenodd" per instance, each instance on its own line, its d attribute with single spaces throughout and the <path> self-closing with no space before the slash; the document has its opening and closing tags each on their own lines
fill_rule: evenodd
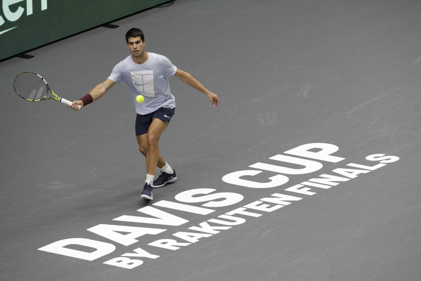
<svg viewBox="0 0 421 281">
<path fill-rule="evenodd" d="M 360 159 L 358 163 L 346 161 L 329 171 L 326 164 L 330 166 L 330 163 L 345 160 L 333 155 L 338 150 L 339 147 L 328 143 L 304 144 L 270 157 L 271 163 L 250 165 L 253 170 L 226 174 L 222 178 L 226 183 L 267 188 L 266 194 L 256 193 L 259 197 L 246 198 L 247 202 L 242 202 L 244 196 L 240 193 L 216 192 L 213 188 L 185 190 L 175 195 L 175 200 L 161 200 L 136 210 L 136 215 L 131 212 L 112 219 L 112 223 L 88 228 L 90 234 L 97 235 L 96 239 L 65 238 L 38 250 L 133 269 L 148 260 L 159 258 L 158 254 L 171 255 L 172 251 L 191 247 L 249 220 L 273 211 L 282 212 L 287 206 L 305 202 L 312 196 L 323 194 L 330 188 L 341 187 L 360 176 L 363 178 L 365 174 L 399 160 L 399 157 L 393 155 L 372 154 Z M 325 169 L 320 171 L 323 167 Z M 275 175 L 257 176 L 265 172 Z M 313 174 L 315 172 L 317 174 Z M 299 183 L 292 182 L 288 187 L 282 187 L 290 177 L 293 179 L 295 175 L 304 174 L 308 174 L 305 181 L 301 179 Z M 351 188 L 352 185 L 348 184 L 347 187 Z M 261 232 L 264 230 L 262 227 Z M 231 232 L 231 235 L 241 231 L 248 229 L 238 229 L 237 232 Z M 104 241 L 104 238 L 107 240 Z"/>
</svg>

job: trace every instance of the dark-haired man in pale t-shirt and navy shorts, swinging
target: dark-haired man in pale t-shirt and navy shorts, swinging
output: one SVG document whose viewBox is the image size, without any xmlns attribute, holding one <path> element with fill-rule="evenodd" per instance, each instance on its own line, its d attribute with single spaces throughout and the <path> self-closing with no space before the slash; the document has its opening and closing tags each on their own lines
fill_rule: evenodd
<svg viewBox="0 0 421 281">
<path fill-rule="evenodd" d="M 146 157 L 147 174 L 141 197 L 152 200 L 153 187 L 162 187 L 176 179 L 176 171 L 164 160 L 158 147 L 160 136 L 167 128 L 175 110 L 168 77 L 174 75 L 206 94 L 213 106 L 218 106 L 219 98 L 192 75 L 175 67 L 165 56 L 146 52 L 144 34 L 140 29 L 130 29 L 126 33 L 126 42 L 131 55 L 118 63 L 104 82 L 68 107 L 79 110 L 99 99 L 116 83 L 127 83 L 137 113 L 136 139 L 140 152 Z M 139 94 L 144 96 L 143 103 L 136 102 L 136 96 Z M 161 169 L 161 175 L 154 180 L 156 166 Z"/>
</svg>

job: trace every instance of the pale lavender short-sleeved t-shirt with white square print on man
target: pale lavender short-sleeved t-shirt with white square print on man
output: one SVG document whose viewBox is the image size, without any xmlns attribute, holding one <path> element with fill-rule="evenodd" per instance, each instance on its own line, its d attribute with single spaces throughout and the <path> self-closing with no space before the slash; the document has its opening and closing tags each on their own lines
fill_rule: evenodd
<svg viewBox="0 0 421 281">
<path fill-rule="evenodd" d="M 136 64 L 131 56 L 119 62 L 108 79 L 116 83 L 127 83 L 136 113 L 145 115 L 160 107 L 176 107 L 168 83 L 168 77 L 176 71 L 177 67 L 167 57 L 148 52 L 148 59 L 143 64 Z M 136 102 L 139 94 L 145 97 L 142 103 Z"/>
</svg>

